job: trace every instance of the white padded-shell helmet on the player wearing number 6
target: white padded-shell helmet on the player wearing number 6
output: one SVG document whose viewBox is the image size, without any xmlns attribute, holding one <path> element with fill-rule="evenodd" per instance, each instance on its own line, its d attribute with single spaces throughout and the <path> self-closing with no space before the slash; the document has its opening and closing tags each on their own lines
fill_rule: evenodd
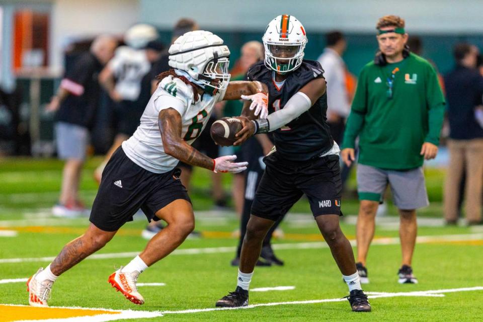
<svg viewBox="0 0 483 322">
<path fill-rule="evenodd" d="M 169 64 L 186 71 L 205 86 L 224 90 L 228 86 L 230 50 L 223 40 L 204 30 L 185 33 L 170 47 Z M 218 86 L 212 82 L 218 79 Z"/>
</svg>

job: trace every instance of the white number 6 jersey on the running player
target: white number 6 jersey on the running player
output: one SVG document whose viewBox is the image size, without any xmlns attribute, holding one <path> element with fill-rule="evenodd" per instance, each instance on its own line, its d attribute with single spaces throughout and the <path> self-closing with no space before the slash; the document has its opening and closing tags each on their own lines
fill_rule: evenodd
<svg viewBox="0 0 483 322">
<path fill-rule="evenodd" d="M 178 159 L 165 153 L 158 126 L 159 111 L 173 108 L 181 115 L 181 136 L 192 144 L 201 134 L 214 105 L 223 99 L 225 91 L 214 96 L 204 94 L 197 102 L 193 89 L 173 76 L 163 78 L 141 116 L 136 132 L 122 143 L 124 153 L 139 167 L 153 173 L 166 173 L 178 164 Z"/>
</svg>

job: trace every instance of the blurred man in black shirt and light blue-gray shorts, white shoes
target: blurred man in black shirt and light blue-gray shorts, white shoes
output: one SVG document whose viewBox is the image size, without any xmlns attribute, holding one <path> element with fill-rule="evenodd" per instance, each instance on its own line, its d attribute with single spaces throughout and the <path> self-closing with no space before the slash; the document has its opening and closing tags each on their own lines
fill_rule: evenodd
<svg viewBox="0 0 483 322">
<path fill-rule="evenodd" d="M 57 94 L 47 106 L 47 111 L 56 111 L 57 154 L 66 160 L 59 201 L 52 208 L 56 216 L 76 216 L 87 211 L 79 200 L 79 181 L 101 93 L 98 76 L 116 47 L 117 40 L 113 37 L 97 37 L 90 51 L 77 59 L 72 70 L 66 71 Z"/>
</svg>

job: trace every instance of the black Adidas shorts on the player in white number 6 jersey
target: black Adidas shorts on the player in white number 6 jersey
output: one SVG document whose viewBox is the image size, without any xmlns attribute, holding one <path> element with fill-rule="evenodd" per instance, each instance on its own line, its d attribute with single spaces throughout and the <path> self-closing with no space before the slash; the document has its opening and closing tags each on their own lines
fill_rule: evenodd
<svg viewBox="0 0 483 322">
<path fill-rule="evenodd" d="M 99 229 L 115 231 L 141 209 L 150 221 L 155 213 L 177 199 L 191 203 L 181 184 L 181 170 L 164 174 L 147 171 L 126 156 L 122 147 L 112 155 L 102 173 L 102 181 L 89 220 Z"/>
</svg>

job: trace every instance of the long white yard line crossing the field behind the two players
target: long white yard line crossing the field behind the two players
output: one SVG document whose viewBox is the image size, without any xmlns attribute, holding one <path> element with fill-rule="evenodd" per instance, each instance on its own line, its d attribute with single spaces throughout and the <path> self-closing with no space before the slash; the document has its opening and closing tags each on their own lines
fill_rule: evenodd
<svg viewBox="0 0 483 322">
<path fill-rule="evenodd" d="M 467 241 L 467 240 L 483 240 L 483 233 L 472 234 L 453 234 L 453 235 L 435 235 L 435 236 L 419 236 L 417 238 L 418 244 L 438 243 L 444 241 Z M 350 240 L 353 246 L 356 245 L 355 240 Z M 375 238 L 372 245 L 397 245 L 399 244 L 398 237 Z M 273 244 L 275 250 L 302 250 L 302 249 L 320 249 L 328 248 L 325 241 L 315 241 L 310 243 L 283 243 Z M 175 250 L 171 255 L 199 255 L 199 254 L 220 254 L 231 253 L 235 251 L 235 247 L 210 247 L 210 248 L 188 248 Z M 111 258 L 131 258 L 139 255 L 139 252 L 125 252 L 125 253 L 108 253 L 108 254 L 93 254 L 86 258 L 86 260 L 99 260 Z M 7 263 L 25 263 L 25 262 L 51 262 L 55 257 L 30 257 L 30 258 L 4 258 L 0 259 L 0 264 Z"/>
</svg>

